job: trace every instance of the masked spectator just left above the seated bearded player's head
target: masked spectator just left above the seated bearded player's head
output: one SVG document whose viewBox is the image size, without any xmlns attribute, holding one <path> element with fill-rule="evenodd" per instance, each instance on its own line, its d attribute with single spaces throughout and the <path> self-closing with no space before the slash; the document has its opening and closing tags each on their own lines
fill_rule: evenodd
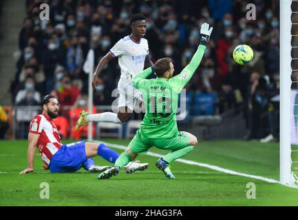
<svg viewBox="0 0 298 220">
<path fill-rule="evenodd" d="M 16 96 L 17 105 L 39 105 L 41 94 L 34 88 L 34 78 L 28 76 L 25 79 L 24 89 L 21 89 Z"/>
</svg>

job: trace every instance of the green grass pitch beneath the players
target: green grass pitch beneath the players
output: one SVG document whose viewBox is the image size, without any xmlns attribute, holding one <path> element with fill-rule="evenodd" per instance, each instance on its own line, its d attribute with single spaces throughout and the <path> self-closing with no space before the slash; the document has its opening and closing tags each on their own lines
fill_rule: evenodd
<svg viewBox="0 0 298 220">
<path fill-rule="evenodd" d="M 127 145 L 129 140 L 103 139 Z M 66 142 L 65 142 L 66 143 Z M 27 166 L 27 142 L 0 142 L 0 206 L 297 206 L 298 189 L 280 184 L 220 173 L 209 168 L 173 162 L 176 179 L 165 179 L 155 166 L 157 157 L 140 155 L 149 168 L 134 174 L 124 170 L 111 179 L 98 174 L 51 174 L 43 170 L 36 149 L 34 173 L 19 175 Z M 119 153 L 121 150 L 116 150 Z M 151 148 L 151 152 L 167 152 Z M 279 179 L 279 144 L 237 140 L 199 142 L 182 159 L 220 166 L 237 172 Z M 96 164 L 108 165 L 100 157 Z M 40 184 L 50 186 L 50 199 L 41 199 Z M 247 199 L 246 184 L 256 186 L 256 198 Z"/>
</svg>

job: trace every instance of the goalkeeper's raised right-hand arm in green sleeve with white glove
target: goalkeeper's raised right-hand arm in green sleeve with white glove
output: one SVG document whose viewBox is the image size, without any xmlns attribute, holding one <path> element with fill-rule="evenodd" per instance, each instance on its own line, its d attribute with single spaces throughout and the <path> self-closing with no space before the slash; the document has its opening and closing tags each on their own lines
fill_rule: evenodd
<svg viewBox="0 0 298 220">
<path fill-rule="evenodd" d="M 209 42 L 212 30 L 212 27 L 209 29 L 208 23 L 202 24 L 200 30 L 201 41 L 198 50 L 193 55 L 193 58 L 191 58 L 191 62 L 189 63 L 189 65 L 184 67 L 180 74 L 171 78 L 171 84 L 173 85 L 173 87 L 178 89 L 178 92 L 180 92 L 181 89 L 189 82 L 191 76 L 193 76 L 193 73 L 195 72 L 195 69 L 197 69 L 200 65 L 204 56 L 204 52 L 206 50 L 206 45 Z"/>
</svg>

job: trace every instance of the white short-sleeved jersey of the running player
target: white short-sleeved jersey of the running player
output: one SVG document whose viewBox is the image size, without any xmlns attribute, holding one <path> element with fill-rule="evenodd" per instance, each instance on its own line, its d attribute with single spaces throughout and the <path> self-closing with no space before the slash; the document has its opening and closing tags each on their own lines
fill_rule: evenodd
<svg viewBox="0 0 298 220">
<path fill-rule="evenodd" d="M 118 64 L 121 68 L 121 78 L 132 79 L 144 69 L 145 58 L 149 54 L 147 39 L 140 39 L 137 43 L 131 36 L 120 39 L 109 51 L 113 56 L 118 57 Z"/>
</svg>

